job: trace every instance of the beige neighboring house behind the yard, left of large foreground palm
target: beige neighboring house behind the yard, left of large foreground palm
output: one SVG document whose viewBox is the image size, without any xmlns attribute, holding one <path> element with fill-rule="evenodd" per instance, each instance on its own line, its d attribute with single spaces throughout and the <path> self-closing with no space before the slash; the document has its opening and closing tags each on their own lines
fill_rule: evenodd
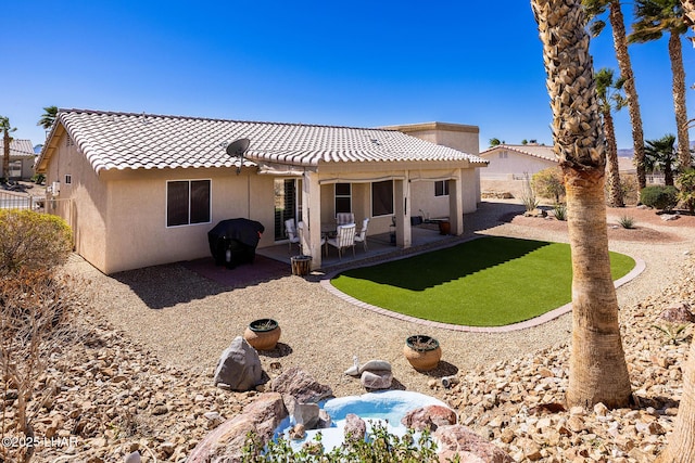
<svg viewBox="0 0 695 463">
<path fill-rule="evenodd" d="M 553 146 L 535 143 L 500 144 L 482 153 L 490 164 L 480 172 L 482 180 L 519 180 L 558 165 Z"/>
</svg>

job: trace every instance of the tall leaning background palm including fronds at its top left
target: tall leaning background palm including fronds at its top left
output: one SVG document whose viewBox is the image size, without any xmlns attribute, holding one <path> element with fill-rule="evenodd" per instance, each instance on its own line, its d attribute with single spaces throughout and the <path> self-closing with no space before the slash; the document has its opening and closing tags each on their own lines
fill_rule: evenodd
<svg viewBox="0 0 695 463">
<path fill-rule="evenodd" d="M 606 23 L 598 18 L 608 11 L 608 21 L 612 28 L 612 43 L 616 50 L 616 60 L 620 77 L 624 80 L 623 88 L 628 99 L 628 111 L 632 123 L 632 146 L 634 150 L 634 165 L 637 169 L 637 183 L 640 189 L 646 187 L 646 175 L 644 171 L 644 130 L 642 129 L 642 116 L 640 114 L 640 101 L 634 83 L 632 62 L 628 53 L 628 34 L 626 33 L 626 22 L 620 9 L 619 0 L 582 0 L 582 5 L 591 22 L 591 33 L 596 37 L 605 28 Z"/>
</svg>

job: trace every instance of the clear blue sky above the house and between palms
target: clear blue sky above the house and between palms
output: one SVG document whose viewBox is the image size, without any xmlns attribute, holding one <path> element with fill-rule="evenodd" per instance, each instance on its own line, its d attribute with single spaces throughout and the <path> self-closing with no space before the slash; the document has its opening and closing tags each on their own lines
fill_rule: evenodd
<svg viewBox="0 0 695 463">
<path fill-rule="evenodd" d="M 530 2 L 430 4 L 9 2 L 0 115 L 34 144 L 48 105 L 356 127 L 439 120 L 479 126 L 481 149 L 493 137 L 551 144 Z M 609 33 L 592 41 L 596 69 L 617 69 Z M 683 53 L 690 86 L 690 41 Z M 631 56 L 645 138 L 674 133 L 666 40 L 632 46 Z M 693 117 L 693 90 L 687 99 Z M 619 147 L 631 147 L 627 108 L 616 126 Z"/>
</svg>

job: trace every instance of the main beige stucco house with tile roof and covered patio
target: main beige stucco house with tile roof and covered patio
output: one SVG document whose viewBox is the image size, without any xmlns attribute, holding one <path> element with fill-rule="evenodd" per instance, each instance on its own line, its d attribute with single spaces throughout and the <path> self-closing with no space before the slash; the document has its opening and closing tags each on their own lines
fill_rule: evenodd
<svg viewBox="0 0 695 463">
<path fill-rule="evenodd" d="M 67 220 L 76 252 L 104 273 L 208 256 L 207 231 L 238 217 L 264 224 L 258 247 L 285 242 L 288 218 L 303 220 L 303 249 L 320 268 L 321 224 L 337 213 L 369 217 L 370 234 L 395 220 L 396 244 L 408 247 L 412 211 L 448 217 L 460 234 L 464 214 L 476 210 L 486 165 L 478 128 L 399 127 L 60 110 L 37 171 L 49 211 Z M 231 158 L 226 146 L 242 138 L 244 157 Z"/>
</svg>

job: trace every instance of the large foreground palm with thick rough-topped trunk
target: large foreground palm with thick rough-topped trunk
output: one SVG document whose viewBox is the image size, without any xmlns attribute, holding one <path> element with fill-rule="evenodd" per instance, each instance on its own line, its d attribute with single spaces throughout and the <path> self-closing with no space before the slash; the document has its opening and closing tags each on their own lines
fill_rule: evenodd
<svg viewBox="0 0 695 463">
<path fill-rule="evenodd" d="M 531 0 L 543 42 L 555 153 L 567 189 L 572 258 L 572 346 L 567 403 L 627 407 L 632 399 L 610 278 L 606 152 L 581 0 Z"/>
</svg>

